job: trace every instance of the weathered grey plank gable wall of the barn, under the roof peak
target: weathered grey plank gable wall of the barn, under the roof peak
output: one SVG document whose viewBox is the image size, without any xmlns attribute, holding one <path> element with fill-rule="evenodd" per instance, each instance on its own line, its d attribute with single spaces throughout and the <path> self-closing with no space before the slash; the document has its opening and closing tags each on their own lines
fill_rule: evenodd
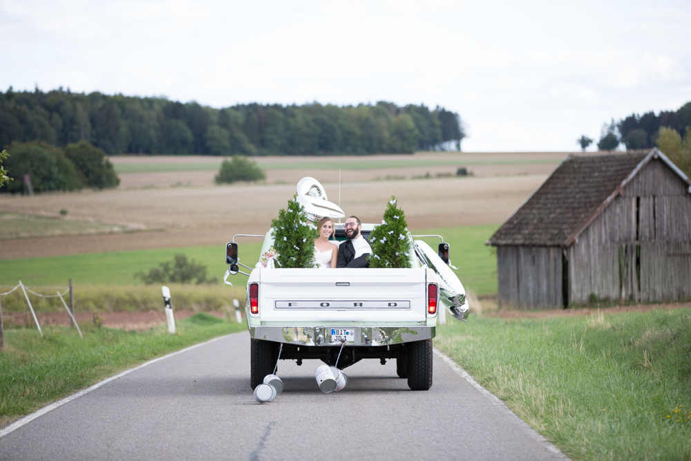
<svg viewBox="0 0 691 461">
<path fill-rule="evenodd" d="M 691 195 L 652 160 L 567 250 L 569 303 L 691 298 Z"/>
</svg>

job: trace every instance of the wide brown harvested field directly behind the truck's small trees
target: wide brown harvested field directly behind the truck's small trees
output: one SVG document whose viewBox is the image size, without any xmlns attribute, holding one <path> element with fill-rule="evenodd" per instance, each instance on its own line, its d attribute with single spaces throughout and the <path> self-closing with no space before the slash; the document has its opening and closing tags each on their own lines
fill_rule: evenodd
<svg viewBox="0 0 691 461">
<path fill-rule="evenodd" d="M 301 177 L 302 177 L 301 173 Z M 500 224 L 545 180 L 545 175 L 343 182 L 341 207 L 365 222 L 379 222 L 389 196 L 406 211 L 410 229 Z M 337 182 L 324 182 L 339 202 Z M 281 185 L 228 185 L 113 189 L 0 196 L 0 209 L 17 214 L 93 220 L 145 232 L 83 236 L 37 236 L 6 241 L 2 259 L 144 248 L 214 245 L 234 234 L 267 232 L 278 209 L 295 193 Z M 11 244 L 10 244 L 11 242 Z"/>
</svg>

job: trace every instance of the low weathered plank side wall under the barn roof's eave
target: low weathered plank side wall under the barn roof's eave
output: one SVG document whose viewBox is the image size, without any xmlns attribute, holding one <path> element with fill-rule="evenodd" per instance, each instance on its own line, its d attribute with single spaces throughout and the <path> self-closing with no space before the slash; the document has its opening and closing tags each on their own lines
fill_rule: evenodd
<svg viewBox="0 0 691 461">
<path fill-rule="evenodd" d="M 561 247 L 497 247 L 502 308 L 553 309 L 562 301 Z"/>
</svg>

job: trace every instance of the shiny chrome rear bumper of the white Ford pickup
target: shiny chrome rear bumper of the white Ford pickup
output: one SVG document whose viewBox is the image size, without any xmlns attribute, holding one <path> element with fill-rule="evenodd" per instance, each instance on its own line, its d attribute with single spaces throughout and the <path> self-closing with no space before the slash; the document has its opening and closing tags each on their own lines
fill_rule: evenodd
<svg viewBox="0 0 691 461">
<path fill-rule="evenodd" d="M 354 330 L 354 341 L 346 343 L 346 346 L 387 346 L 389 344 L 410 343 L 432 339 L 437 332 L 437 328 L 433 326 L 354 326 L 342 328 Z M 318 326 L 250 326 L 249 335 L 253 339 L 287 344 L 340 346 L 340 342 L 332 341 L 331 330 L 330 327 Z"/>
</svg>

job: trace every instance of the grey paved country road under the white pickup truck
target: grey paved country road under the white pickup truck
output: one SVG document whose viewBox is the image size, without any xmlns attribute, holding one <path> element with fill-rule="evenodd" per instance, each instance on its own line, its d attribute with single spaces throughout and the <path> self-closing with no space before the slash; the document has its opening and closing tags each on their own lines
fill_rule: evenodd
<svg viewBox="0 0 691 461">
<path fill-rule="evenodd" d="M 249 388 L 249 336 L 229 335 L 115 379 L 0 438 L 0 460 L 554 460 L 506 406 L 435 356 L 430 391 L 395 361 L 347 368 L 323 394 L 318 361 L 281 361 L 285 391 Z"/>
</svg>

